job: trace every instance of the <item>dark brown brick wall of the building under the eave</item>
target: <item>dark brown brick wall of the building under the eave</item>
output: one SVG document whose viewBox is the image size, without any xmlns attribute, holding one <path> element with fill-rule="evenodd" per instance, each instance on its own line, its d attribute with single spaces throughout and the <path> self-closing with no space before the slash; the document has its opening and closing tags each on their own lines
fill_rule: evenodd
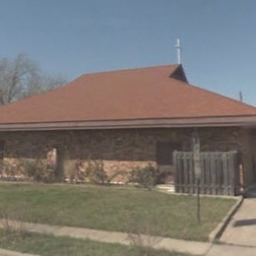
<svg viewBox="0 0 256 256">
<path fill-rule="evenodd" d="M 157 143 L 179 144 L 191 151 L 192 128 L 109 129 L 74 131 L 1 132 L 4 158 L 45 158 L 54 147 L 61 158 L 103 160 L 108 171 L 156 164 Z M 236 150 L 241 154 L 245 183 L 255 180 L 256 132 L 246 128 L 198 128 L 202 151 Z M 68 155 L 68 156 L 67 156 Z"/>
</svg>

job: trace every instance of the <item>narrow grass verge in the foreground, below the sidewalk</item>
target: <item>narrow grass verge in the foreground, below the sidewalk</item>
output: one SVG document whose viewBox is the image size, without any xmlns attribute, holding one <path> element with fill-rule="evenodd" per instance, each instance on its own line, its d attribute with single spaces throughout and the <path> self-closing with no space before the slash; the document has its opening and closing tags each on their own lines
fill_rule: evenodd
<svg viewBox="0 0 256 256">
<path fill-rule="evenodd" d="M 42 256 L 140 256 L 141 248 L 82 240 L 67 236 L 56 237 L 53 235 L 27 233 L 25 236 L 6 236 L 0 230 L 0 247 L 16 250 L 23 253 L 33 253 Z M 185 256 L 185 254 L 168 252 L 166 250 L 150 249 L 147 255 L 158 256 Z"/>
</svg>

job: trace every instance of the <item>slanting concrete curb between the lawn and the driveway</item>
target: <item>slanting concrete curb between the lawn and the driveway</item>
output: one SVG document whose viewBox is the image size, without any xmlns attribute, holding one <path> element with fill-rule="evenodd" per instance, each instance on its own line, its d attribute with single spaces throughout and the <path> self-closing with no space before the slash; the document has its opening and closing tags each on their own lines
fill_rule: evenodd
<svg viewBox="0 0 256 256">
<path fill-rule="evenodd" d="M 208 239 L 211 243 L 214 243 L 216 240 L 218 240 L 222 236 L 225 227 L 227 226 L 227 224 L 229 224 L 231 218 L 236 213 L 236 211 L 238 210 L 242 202 L 243 202 L 243 197 L 240 196 L 236 204 L 226 214 L 223 221 L 220 224 L 218 224 L 217 227 L 209 234 Z"/>
</svg>

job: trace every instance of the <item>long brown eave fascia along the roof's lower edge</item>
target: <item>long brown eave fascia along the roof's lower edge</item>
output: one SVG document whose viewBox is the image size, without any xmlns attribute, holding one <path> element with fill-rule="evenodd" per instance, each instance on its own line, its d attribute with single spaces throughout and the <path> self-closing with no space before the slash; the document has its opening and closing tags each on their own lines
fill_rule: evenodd
<svg viewBox="0 0 256 256">
<path fill-rule="evenodd" d="M 0 124 L 0 132 L 225 126 L 256 127 L 256 115 L 191 118 L 149 118 L 129 120 L 92 120 L 67 122 L 2 123 Z"/>
</svg>

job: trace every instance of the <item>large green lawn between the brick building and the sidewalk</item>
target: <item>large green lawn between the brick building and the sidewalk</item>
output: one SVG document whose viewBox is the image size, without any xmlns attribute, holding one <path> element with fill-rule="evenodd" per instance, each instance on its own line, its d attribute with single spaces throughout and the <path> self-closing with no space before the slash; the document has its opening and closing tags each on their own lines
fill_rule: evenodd
<svg viewBox="0 0 256 256">
<path fill-rule="evenodd" d="M 233 199 L 203 197 L 201 224 L 194 196 L 166 195 L 132 187 L 0 183 L 0 217 L 201 240 L 223 220 Z M 21 212 L 23 212 L 21 214 Z"/>
</svg>

